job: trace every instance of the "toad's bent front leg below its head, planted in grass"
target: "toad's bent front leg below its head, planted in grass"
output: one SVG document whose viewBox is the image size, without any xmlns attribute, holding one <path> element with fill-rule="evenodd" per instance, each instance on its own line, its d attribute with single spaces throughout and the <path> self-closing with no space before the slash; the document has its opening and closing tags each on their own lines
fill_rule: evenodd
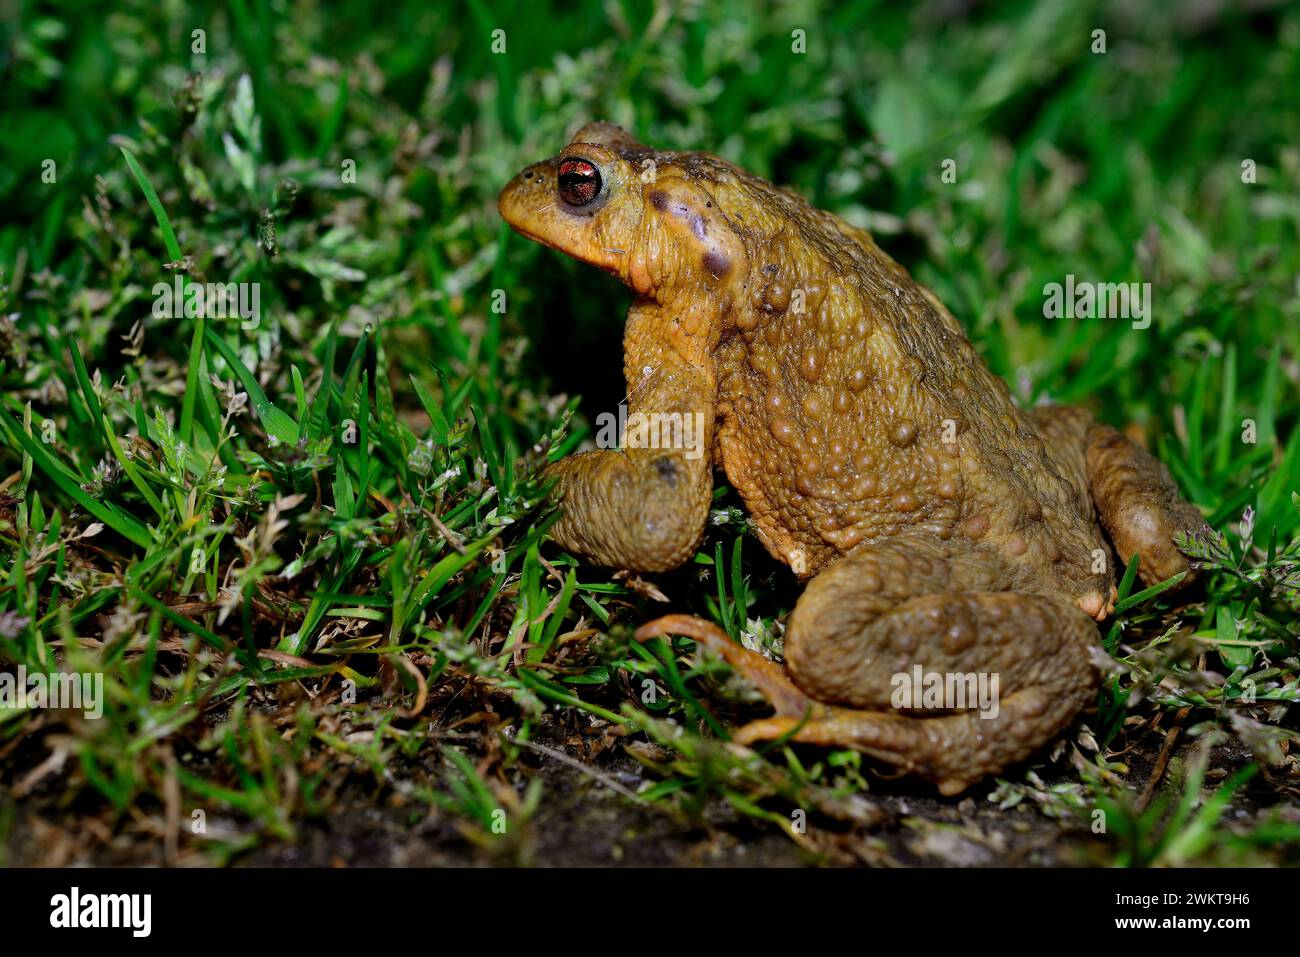
<svg viewBox="0 0 1300 957">
<path fill-rule="evenodd" d="M 551 531 L 556 542 L 633 571 L 666 571 L 690 558 L 712 497 L 711 345 L 654 306 L 633 307 L 624 333 L 624 447 L 580 452 L 546 469 L 563 508 Z"/>
</svg>

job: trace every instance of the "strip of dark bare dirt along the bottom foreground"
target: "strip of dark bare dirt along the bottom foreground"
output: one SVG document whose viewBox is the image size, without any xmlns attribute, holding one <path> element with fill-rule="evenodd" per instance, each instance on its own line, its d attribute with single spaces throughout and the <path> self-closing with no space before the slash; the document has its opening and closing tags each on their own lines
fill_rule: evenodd
<svg viewBox="0 0 1300 957">
<path fill-rule="evenodd" d="M 1190 750 L 1186 745 L 1178 749 L 1173 765 Z M 1135 788 L 1145 784 L 1153 757 L 1141 752 L 1126 755 Z M 1236 766 L 1245 757 L 1221 748 L 1210 762 L 1210 776 L 1222 776 L 1216 775 L 1216 767 Z M 238 844 L 243 832 L 248 846 L 230 857 L 231 865 L 272 867 L 1043 867 L 1104 865 L 1114 852 L 1113 837 L 1093 835 L 1082 820 L 1053 820 L 1030 802 L 998 807 L 988 800 L 991 787 L 948 800 L 926 793 L 920 784 L 874 780 L 874 791 L 859 807 L 858 818 L 864 823 L 845 826 L 812 813 L 796 843 L 779 827 L 744 815 L 722 800 L 706 801 L 688 814 L 671 800 L 646 804 L 612 789 L 604 781 L 636 792 L 647 778 L 646 768 L 620 749 L 594 762 L 599 779 L 546 753 L 529 753 L 526 767 L 515 770 L 521 781 L 541 778 L 542 800 L 515 832 L 488 841 L 467 836 L 454 815 L 402 797 L 395 789 L 384 789 L 377 797 L 373 781 L 359 775 L 333 796 L 328 814 L 298 824 L 295 840 L 256 841 L 234 818 L 214 819 L 211 828 L 230 844 Z M 1266 814 L 1268 805 L 1260 800 L 1269 794 L 1268 788 L 1243 789 L 1225 822 Z M 1296 817 L 1294 807 L 1283 814 Z M 62 807 L 56 788 L 21 804 L 0 805 L 10 866 L 161 865 L 165 846 L 160 822 L 161 815 L 155 819 L 147 814 L 114 820 L 92 805 Z M 214 862 L 185 840 L 177 853 L 174 862 L 179 865 Z"/>
</svg>

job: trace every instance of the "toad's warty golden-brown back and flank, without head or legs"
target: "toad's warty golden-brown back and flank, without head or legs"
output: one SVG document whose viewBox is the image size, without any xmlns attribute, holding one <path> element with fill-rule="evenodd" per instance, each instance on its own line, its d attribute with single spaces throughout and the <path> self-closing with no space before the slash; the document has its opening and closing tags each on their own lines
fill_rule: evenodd
<svg viewBox="0 0 1300 957">
<path fill-rule="evenodd" d="M 1083 476 L 928 290 L 864 230 L 699 166 L 749 256 L 719 346 L 718 454 L 768 549 L 811 575 L 913 528 L 1091 579 L 1060 568 L 1096 546 Z"/>
</svg>

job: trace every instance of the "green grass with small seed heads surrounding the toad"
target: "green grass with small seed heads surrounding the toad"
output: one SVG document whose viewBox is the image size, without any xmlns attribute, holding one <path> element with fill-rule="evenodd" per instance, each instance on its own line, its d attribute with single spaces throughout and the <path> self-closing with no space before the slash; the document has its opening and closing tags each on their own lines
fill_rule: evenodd
<svg viewBox="0 0 1300 957">
<path fill-rule="evenodd" d="M 659 588 L 779 649 L 797 589 L 733 492 L 654 583 L 546 538 L 538 467 L 621 397 L 628 294 L 494 198 L 603 117 L 870 226 L 1019 400 L 1138 429 L 1222 532 L 1190 544 L 1190 605 L 1126 579 L 1097 714 L 993 798 L 1086 839 L 1102 810 L 1105 862 L 1295 859 L 1300 13 L 944 9 L 26 5 L 0 60 L 0 661 L 103 672 L 108 706 L 0 711 L 0 828 L 30 794 L 225 861 L 364 794 L 520 859 L 559 800 L 528 745 L 575 728 L 696 820 L 723 802 L 814 854 L 800 809 L 879 823 L 857 754 L 740 754 L 725 667 L 629 641 Z M 155 317 L 177 274 L 260 283 L 260 324 Z M 1045 319 L 1066 274 L 1152 282 L 1154 321 Z M 1127 749 L 1174 724 L 1192 749 L 1140 806 Z"/>
</svg>

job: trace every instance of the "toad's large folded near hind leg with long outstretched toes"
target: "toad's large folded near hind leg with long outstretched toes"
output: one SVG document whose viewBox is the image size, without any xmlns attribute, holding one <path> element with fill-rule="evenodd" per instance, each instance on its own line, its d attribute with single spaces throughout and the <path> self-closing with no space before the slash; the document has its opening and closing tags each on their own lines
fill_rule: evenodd
<svg viewBox="0 0 1300 957">
<path fill-rule="evenodd" d="M 757 662 L 744 649 L 728 655 L 777 710 L 734 740 L 789 735 L 855 748 L 945 794 L 1027 757 L 1091 697 L 1097 632 L 1063 599 L 991 590 L 1000 575 L 992 555 L 950 555 L 920 536 L 841 559 L 814 579 L 790 618 L 785 651 L 798 688 L 774 694 L 770 662 L 753 655 L 762 666 L 750 667 Z M 664 631 L 684 629 L 655 633 Z M 936 681 L 948 694 L 928 701 Z M 919 701 L 900 697 L 916 685 Z"/>
</svg>

